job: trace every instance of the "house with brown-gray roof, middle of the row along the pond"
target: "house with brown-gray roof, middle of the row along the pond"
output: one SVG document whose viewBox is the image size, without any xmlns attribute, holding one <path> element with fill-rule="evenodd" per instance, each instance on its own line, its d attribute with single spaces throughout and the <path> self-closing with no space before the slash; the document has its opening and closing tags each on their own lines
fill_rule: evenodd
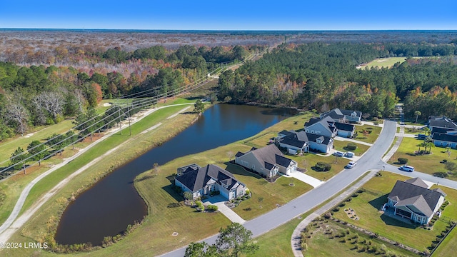
<svg viewBox="0 0 457 257">
<path fill-rule="evenodd" d="M 235 163 L 266 177 L 276 176 L 279 172 L 289 175 L 297 168 L 296 161 L 284 157 L 273 143 L 263 148 L 253 148 L 246 153 L 236 153 Z"/>
</svg>

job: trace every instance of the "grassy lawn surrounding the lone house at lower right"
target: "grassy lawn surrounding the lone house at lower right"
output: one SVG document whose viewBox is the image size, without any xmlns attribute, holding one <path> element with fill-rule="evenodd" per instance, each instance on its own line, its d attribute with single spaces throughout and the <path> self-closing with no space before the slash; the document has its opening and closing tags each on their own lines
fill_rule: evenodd
<svg viewBox="0 0 457 257">
<path fill-rule="evenodd" d="M 380 236 L 416 248 L 419 251 L 426 250 L 431 245 L 431 242 L 435 240 L 436 236 L 446 228 L 448 223 L 438 220 L 433 226 L 433 230 L 428 231 L 418 226 L 389 218 L 378 211 L 383 203 L 386 203 L 387 195 L 396 181 L 404 181 L 406 179 L 408 179 L 406 176 L 383 172 L 383 176 L 374 177 L 363 186 L 363 188 L 368 190 L 367 192 L 360 193 L 358 197 L 352 198 L 350 202 L 345 202 L 346 206 L 342 207 L 340 211 L 333 213 L 333 216 L 365 228 L 373 233 L 379 233 Z M 457 195 L 455 193 L 457 192 L 449 188 L 443 188 L 443 190 L 446 193 L 449 192 L 448 197 L 446 197 L 448 201 L 456 203 L 457 198 L 455 196 Z M 346 215 L 343 208 L 353 208 L 360 220 L 353 221 Z M 457 213 L 454 214 L 452 208 L 446 207 L 443 215 L 454 218 L 453 216 L 456 216 Z"/>
</svg>

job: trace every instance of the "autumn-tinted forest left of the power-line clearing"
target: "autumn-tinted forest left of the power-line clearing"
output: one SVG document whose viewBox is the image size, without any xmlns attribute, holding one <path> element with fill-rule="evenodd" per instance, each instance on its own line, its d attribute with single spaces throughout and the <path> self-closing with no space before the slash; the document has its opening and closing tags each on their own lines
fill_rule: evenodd
<svg viewBox="0 0 457 257">
<path fill-rule="evenodd" d="M 241 61 L 258 46 L 181 46 L 174 51 L 151 46 L 135 51 L 119 48 L 85 53 L 109 64 L 136 64 L 131 74 L 72 66 L 18 66 L 0 62 L 0 141 L 30 127 L 74 118 L 102 99 L 148 91 L 137 97 L 173 96 L 176 89 L 206 76 L 228 61 Z M 146 67 L 146 69 L 145 69 Z M 99 71 L 99 72 L 97 72 Z"/>
</svg>

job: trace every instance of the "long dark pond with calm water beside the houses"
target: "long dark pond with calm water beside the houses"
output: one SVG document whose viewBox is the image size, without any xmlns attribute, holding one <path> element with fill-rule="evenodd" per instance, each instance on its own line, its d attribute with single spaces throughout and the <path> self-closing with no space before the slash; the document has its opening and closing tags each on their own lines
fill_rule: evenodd
<svg viewBox="0 0 457 257">
<path fill-rule="evenodd" d="M 56 241 L 61 244 L 101 245 L 105 236 L 115 236 L 147 214 L 133 180 L 153 163 L 162 165 L 191 153 L 238 141 L 290 116 L 285 109 L 217 104 L 188 129 L 161 146 L 117 168 L 69 204 L 59 223 Z"/>
</svg>

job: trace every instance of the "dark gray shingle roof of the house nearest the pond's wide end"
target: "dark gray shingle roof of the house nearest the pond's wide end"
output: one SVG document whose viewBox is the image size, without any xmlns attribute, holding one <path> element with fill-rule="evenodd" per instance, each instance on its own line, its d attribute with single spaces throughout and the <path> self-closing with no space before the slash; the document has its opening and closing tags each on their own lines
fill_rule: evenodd
<svg viewBox="0 0 457 257">
<path fill-rule="evenodd" d="M 208 164 L 196 170 L 187 168 L 181 176 L 176 176 L 175 179 L 193 192 L 204 188 L 212 179 L 216 183 L 224 183 L 229 190 L 238 183 L 232 173 L 214 164 Z"/>
</svg>

